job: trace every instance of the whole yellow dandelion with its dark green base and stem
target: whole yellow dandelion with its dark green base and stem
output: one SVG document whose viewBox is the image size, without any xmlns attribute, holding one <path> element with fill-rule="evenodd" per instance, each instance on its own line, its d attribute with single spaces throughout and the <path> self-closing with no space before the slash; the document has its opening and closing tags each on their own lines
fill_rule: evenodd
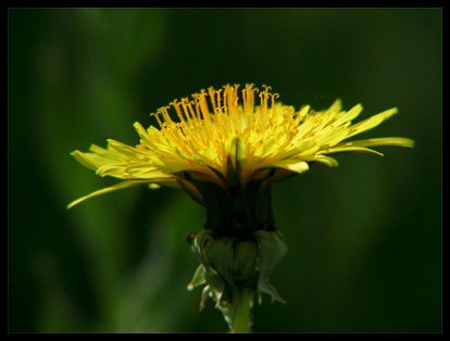
<svg viewBox="0 0 450 341">
<path fill-rule="evenodd" d="M 272 214 L 271 186 L 313 163 L 337 166 L 330 156 L 337 153 L 383 155 L 372 148 L 413 147 L 400 137 L 351 139 L 390 118 L 396 108 L 353 123 L 361 104 L 345 111 L 336 100 L 323 111 L 310 105 L 296 110 L 277 99 L 266 86 L 203 89 L 152 114 L 158 126 L 146 129 L 135 123 L 136 147 L 110 139 L 107 149 L 92 144 L 90 152 L 72 153 L 98 175 L 124 181 L 68 207 L 138 185 L 180 188 L 205 207 L 204 229 L 191 240 L 201 265 L 189 289 L 205 285 L 201 306 L 211 296 L 233 331 L 248 328 L 246 312 L 262 292 L 283 302 L 268 283 L 287 251 Z"/>
</svg>

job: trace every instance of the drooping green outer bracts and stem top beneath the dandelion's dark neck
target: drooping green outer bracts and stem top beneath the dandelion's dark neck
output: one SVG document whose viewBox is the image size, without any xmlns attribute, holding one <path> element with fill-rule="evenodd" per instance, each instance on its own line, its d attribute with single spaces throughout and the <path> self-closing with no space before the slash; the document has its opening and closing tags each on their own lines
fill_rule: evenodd
<svg viewBox="0 0 450 341">
<path fill-rule="evenodd" d="M 192 250 L 200 265 L 188 289 L 205 285 L 200 303 L 211 298 L 233 330 L 235 317 L 242 304 L 251 308 L 254 299 L 262 302 L 262 293 L 272 301 L 285 303 L 268 282 L 268 277 L 287 252 L 279 231 L 257 230 L 247 237 L 220 236 L 203 229 L 193 238 Z"/>
</svg>

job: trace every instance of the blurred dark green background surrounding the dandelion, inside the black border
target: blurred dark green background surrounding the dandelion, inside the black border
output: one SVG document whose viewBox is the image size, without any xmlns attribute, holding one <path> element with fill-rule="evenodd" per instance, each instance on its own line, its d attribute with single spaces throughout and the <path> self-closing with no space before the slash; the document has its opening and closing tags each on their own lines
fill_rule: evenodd
<svg viewBox="0 0 450 341">
<path fill-rule="evenodd" d="M 255 83 L 296 108 L 398 106 L 364 137 L 416 141 L 274 187 L 288 303 L 265 298 L 255 331 L 440 331 L 441 72 L 439 9 L 10 9 L 9 330 L 226 331 L 186 290 L 201 206 L 134 188 L 66 211 L 116 182 L 70 152 L 135 144 L 132 124 L 173 99 Z"/>
</svg>

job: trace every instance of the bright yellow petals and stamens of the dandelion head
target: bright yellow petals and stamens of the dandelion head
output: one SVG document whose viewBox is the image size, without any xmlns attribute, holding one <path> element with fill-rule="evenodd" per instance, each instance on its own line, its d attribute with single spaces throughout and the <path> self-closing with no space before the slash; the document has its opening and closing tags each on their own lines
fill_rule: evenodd
<svg viewBox="0 0 450 341">
<path fill-rule="evenodd" d="M 377 146 L 413 147 L 407 138 L 347 139 L 378 126 L 397 113 L 389 109 L 357 124 L 363 108 L 341 110 L 340 100 L 324 111 L 309 105 L 296 111 L 277 102 L 270 87 L 263 90 L 247 85 L 209 88 L 173 101 L 152 114 L 158 127 L 134 127 L 140 143 L 130 147 L 108 140 L 108 148 L 92 144 L 90 152 L 72 155 L 100 176 L 126 181 L 93 192 L 70 204 L 129 186 L 173 186 L 186 189 L 188 178 L 227 185 L 232 167 L 245 186 L 268 168 L 303 173 L 312 162 L 337 166 L 328 154 L 341 152 L 382 153 L 370 149 Z M 257 104 L 258 103 L 258 104 Z M 188 176 L 188 177 L 187 177 Z"/>
</svg>

